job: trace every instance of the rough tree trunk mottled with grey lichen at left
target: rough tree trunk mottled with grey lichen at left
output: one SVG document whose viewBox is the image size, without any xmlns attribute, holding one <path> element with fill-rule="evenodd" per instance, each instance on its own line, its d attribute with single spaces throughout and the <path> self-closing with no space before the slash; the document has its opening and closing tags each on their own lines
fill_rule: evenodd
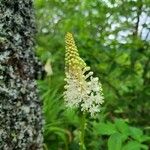
<svg viewBox="0 0 150 150">
<path fill-rule="evenodd" d="M 42 150 L 31 0 L 0 0 L 0 150 Z"/>
</svg>

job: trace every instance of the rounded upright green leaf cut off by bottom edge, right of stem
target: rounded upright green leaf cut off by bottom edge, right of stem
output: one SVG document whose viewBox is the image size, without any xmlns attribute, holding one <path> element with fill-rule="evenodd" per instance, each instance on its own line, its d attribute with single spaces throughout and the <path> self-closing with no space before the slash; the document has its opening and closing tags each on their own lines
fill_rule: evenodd
<svg viewBox="0 0 150 150">
<path fill-rule="evenodd" d="M 122 136 L 116 132 L 112 134 L 108 139 L 108 150 L 121 150 L 122 147 Z"/>
</svg>

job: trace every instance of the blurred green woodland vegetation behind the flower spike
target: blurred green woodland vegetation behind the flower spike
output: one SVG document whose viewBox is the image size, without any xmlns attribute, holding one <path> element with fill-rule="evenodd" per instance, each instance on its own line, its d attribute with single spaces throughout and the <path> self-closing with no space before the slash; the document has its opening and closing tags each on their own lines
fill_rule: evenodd
<svg viewBox="0 0 150 150">
<path fill-rule="evenodd" d="M 35 0 L 36 53 L 52 69 L 38 81 L 48 150 L 78 150 L 79 118 L 66 110 L 64 36 L 103 85 L 105 103 L 89 120 L 89 150 L 150 147 L 150 0 Z"/>
</svg>

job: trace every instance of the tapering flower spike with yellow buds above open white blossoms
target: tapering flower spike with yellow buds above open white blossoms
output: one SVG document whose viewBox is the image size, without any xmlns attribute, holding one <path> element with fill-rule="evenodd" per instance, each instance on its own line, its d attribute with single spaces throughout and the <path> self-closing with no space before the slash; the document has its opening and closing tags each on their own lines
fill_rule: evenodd
<svg viewBox="0 0 150 150">
<path fill-rule="evenodd" d="M 79 108 L 94 117 L 104 102 L 101 83 L 97 77 L 93 77 L 90 67 L 80 58 L 71 33 L 66 34 L 65 43 L 66 105 L 70 108 Z"/>
</svg>

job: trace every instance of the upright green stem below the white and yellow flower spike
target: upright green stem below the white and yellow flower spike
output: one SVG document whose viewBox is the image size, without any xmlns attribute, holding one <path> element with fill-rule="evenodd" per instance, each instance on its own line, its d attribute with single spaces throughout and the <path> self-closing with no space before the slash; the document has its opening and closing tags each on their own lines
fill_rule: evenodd
<svg viewBox="0 0 150 150">
<path fill-rule="evenodd" d="M 85 144 L 84 144 L 85 124 L 86 124 L 86 115 L 84 113 L 82 113 L 82 116 L 81 116 L 80 150 L 86 150 Z"/>
</svg>

